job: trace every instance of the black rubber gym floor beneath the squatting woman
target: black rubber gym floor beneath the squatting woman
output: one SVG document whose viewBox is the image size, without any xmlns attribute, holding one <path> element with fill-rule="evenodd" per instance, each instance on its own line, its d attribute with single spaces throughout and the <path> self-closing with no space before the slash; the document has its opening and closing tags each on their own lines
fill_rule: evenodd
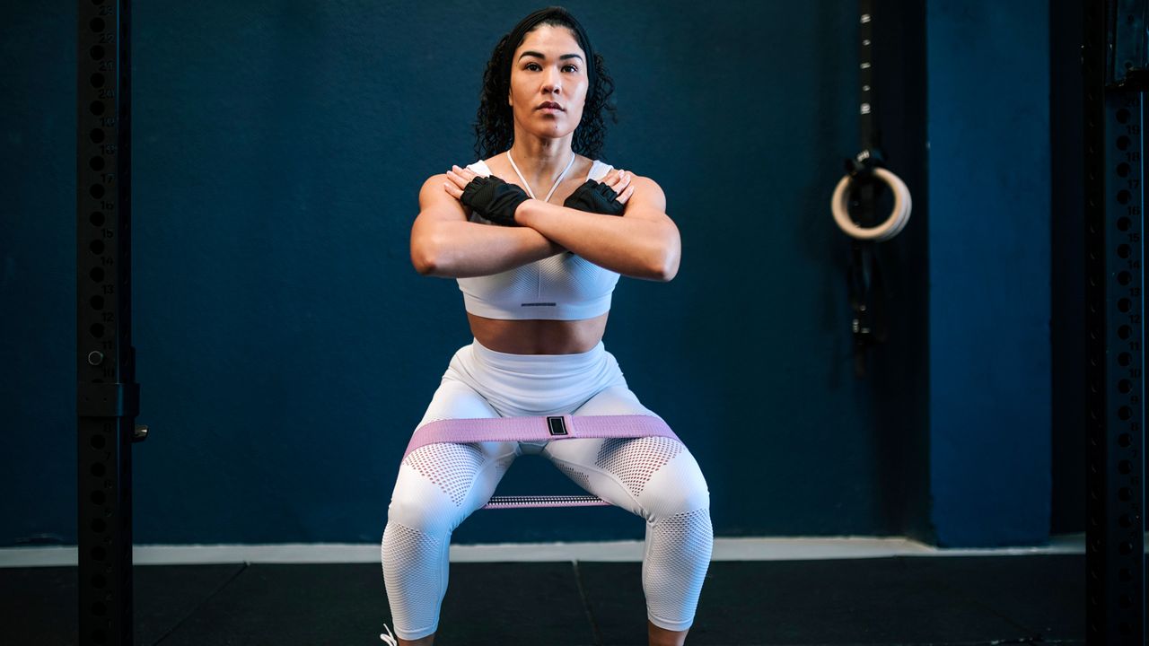
<svg viewBox="0 0 1149 646">
<path fill-rule="evenodd" d="M 646 645 L 641 563 L 452 563 L 437 646 Z M 137 566 L 136 644 L 379 646 L 379 564 Z M 76 568 L 0 569 L 0 643 L 75 645 Z M 1085 644 L 1085 555 L 710 564 L 691 646 Z"/>
</svg>

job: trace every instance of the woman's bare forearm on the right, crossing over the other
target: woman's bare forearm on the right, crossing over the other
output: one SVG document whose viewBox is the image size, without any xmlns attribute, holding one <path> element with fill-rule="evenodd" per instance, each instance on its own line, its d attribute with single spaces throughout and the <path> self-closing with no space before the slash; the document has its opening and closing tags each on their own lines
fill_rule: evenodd
<svg viewBox="0 0 1149 646">
<path fill-rule="evenodd" d="M 619 217 L 527 200 L 515 218 L 599 267 L 634 278 L 665 280 L 678 266 L 673 223 Z"/>
</svg>

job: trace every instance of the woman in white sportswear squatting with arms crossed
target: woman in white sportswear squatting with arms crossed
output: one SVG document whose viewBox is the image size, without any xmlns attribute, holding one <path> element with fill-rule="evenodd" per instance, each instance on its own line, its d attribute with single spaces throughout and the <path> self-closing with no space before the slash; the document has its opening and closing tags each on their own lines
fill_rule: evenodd
<svg viewBox="0 0 1149 646">
<path fill-rule="evenodd" d="M 481 161 L 427 179 L 411 228 L 411 262 L 419 274 L 457 278 L 475 337 L 455 353 L 419 426 L 654 415 L 602 336 L 618 276 L 670 280 L 679 237 L 654 180 L 595 160 L 611 91 L 602 57 L 560 7 L 531 14 L 495 47 L 476 124 Z M 398 644 L 433 641 L 450 535 L 523 454 L 546 456 L 591 493 L 646 518 L 649 643 L 683 644 L 710 562 L 710 494 L 686 447 L 662 437 L 412 452 L 400 466 L 381 549 Z M 380 637 L 396 644 L 390 629 Z"/>
</svg>

